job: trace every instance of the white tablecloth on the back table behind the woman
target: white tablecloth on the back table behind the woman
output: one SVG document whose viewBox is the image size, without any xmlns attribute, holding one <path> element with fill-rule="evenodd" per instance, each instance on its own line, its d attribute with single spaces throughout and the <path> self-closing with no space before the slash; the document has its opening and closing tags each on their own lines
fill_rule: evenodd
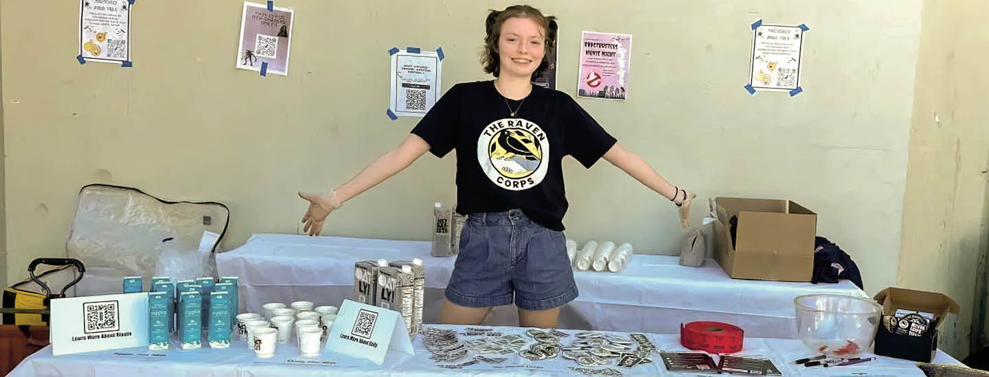
<svg viewBox="0 0 989 377">
<path fill-rule="evenodd" d="M 442 288 L 454 258 L 432 258 L 431 244 L 339 237 L 258 234 L 243 246 L 217 256 L 223 276 L 240 277 L 241 311 L 259 313 L 266 302 L 306 299 L 340 302 L 353 296 L 357 261 L 424 261 L 424 322 L 435 322 Z M 793 298 L 831 293 L 867 297 L 848 280 L 837 284 L 732 279 L 714 261 L 699 267 L 677 264 L 672 256 L 633 256 L 618 273 L 575 271 L 581 295 L 561 313 L 563 329 L 677 334 L 679 324 L 720 321 L 746 335 L 796 338 Z M 513 306 L 495 308 L 486 325 L 518 324 Z"/>
</svg>

